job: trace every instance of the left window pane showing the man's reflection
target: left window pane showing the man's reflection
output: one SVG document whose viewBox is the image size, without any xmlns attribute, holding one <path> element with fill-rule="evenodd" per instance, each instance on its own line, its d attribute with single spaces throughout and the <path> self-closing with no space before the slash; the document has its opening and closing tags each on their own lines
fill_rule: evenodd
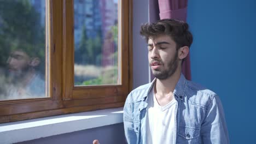
<svg viewBox="0 0 256 144">
<path fill-rule="evenodd" d="M 0 1 L 0 100 L 45 97 L 45 0 Z"/>
</svg>

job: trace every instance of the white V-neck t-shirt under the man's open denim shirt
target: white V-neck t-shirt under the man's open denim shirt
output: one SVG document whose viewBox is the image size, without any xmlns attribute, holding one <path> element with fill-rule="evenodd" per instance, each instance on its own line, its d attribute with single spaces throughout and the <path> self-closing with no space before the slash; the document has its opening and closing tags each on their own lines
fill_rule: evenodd
<svg viewBox="0 0 256 144">
<path fill-rule="evenodd" d="M 155 98 L 154 88 L 148 97 L 147 107 L 147 144 L 175 143 L 175 107 L 177 101 L 160 106 Z"/>
</svg>

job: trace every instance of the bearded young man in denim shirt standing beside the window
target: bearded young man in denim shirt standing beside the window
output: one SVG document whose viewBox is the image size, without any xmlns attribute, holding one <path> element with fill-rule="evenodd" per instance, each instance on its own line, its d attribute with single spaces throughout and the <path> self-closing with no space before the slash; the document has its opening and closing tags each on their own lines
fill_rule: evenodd
<svg viewBox="0 0 256 144">
<path fill-rule="evenodd" d="M 134 89 L 124 106 L 128 143 L 229 143 L 218 95 L 188 81 L 182 62 L 193 36 L 185 22 L 165 19 L 141 27 L 155 79 Z"/>
</svg>

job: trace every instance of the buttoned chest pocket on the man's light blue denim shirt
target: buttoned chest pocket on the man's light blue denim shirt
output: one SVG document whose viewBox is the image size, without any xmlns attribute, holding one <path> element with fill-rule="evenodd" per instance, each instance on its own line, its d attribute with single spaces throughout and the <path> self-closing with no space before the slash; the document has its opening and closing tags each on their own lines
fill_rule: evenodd
<svg viewBox="0 0 256 144">
<path fill-rule="evenodd" d="M 179 126 L 178 135 L 185 140 L 196 139 L 200 136 L 200 129 L 196 127 Z"/>
</svg>

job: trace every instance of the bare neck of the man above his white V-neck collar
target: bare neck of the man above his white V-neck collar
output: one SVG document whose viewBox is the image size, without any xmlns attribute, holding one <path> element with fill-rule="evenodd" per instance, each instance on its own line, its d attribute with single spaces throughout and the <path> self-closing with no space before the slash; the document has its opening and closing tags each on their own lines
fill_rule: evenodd
<svg viewBox="0 0 256 144">
<path fill-rule="evenodd" d="M 178 67 L 173 75 L 165 80 L 156 79 L 155 92 L 162 97 L 165 95 L 172 94 L 179 78 L 181 77 L 181 67 Z"/>
</svg>

